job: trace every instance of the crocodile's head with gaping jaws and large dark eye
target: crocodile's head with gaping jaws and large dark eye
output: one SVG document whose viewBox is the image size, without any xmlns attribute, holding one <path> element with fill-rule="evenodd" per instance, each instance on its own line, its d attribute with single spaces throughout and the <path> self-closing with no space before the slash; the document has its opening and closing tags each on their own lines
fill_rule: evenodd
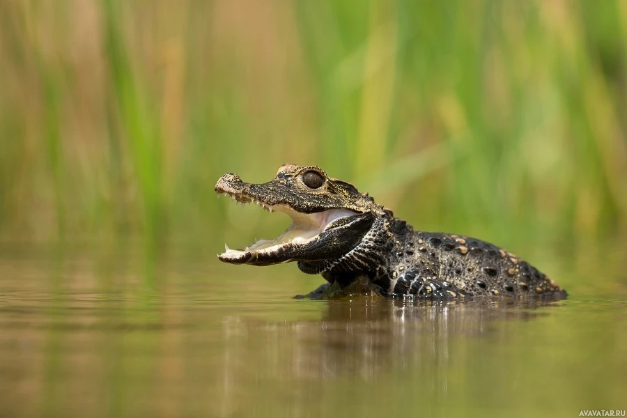
<svg viewBox="0 0 627 418">
<path fill-rule="evenodd" d="M 270 265 L 298 261 L 302 271 L 323 272 L 324 263 L 339 260 L 362 242 L 382 208 L 355 186 L 330 178 L 314 166 L 285 164 L 268 183 L 251 184 L 224 174 L 215 192 L 240 203 L 256 203 L 292 219 L 288 230 L 272 240 L 219 254 L 226 263 Z"/>
</svg>

